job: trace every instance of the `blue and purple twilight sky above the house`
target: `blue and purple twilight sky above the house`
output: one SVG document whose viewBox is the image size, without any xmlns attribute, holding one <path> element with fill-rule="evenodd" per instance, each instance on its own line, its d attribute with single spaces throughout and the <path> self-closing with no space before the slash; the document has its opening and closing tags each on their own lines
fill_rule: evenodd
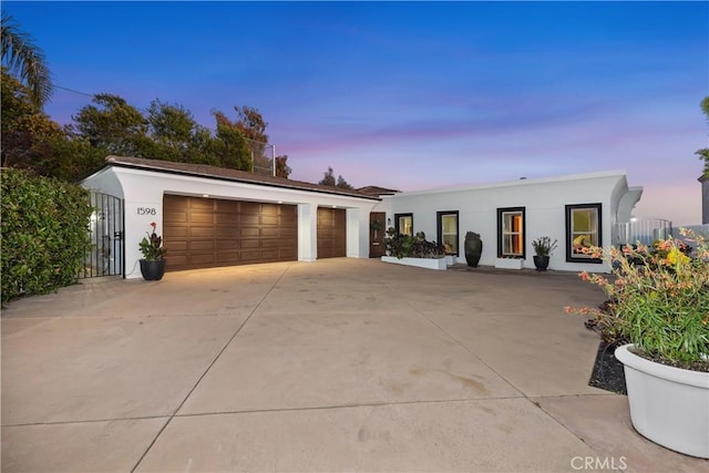
<svg viewBox="0 0 709 473">
<path fill-rule="evenodd" d="M 60 123 L 112 93 L 257 109 L 291 178 L 400 191 L 625 171 L 634 215 L 701 223 L 709 2 L 3 1 Z M 71 91 L 69 91 L 69 90 Z M 73 91 L 73 92 L 72 92 Z M 78 93 L 81 92 L 81 93 Z M 86 95 L 88 94 L 88 95 Z"/>
</svg>

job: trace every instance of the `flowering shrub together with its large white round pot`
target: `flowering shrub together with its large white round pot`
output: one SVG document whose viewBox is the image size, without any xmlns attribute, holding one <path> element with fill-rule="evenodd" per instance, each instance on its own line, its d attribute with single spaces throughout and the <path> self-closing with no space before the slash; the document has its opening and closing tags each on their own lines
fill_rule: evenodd
<svg viewBox="0 0 709 473">
<path fill-rule="evenodd" d="M 635 429 L 668 449 L 709 459 L 709 245 L 688 248 L 668 238 L 654 246 L 585 253 L 609 260 L 613 278 L 582 273 L 609 297 L 607 310 L 567 308 L 590 315 L 630 343 L 616 349 L 624 364 Z M 610 280 L 613 279 L 613 280 Z"/>
</svg>

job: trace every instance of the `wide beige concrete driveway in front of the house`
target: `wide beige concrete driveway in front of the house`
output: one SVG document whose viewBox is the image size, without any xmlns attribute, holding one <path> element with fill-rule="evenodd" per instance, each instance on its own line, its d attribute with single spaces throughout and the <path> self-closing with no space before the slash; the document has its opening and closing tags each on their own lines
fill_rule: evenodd
<svg viewBox="0 0 709 473">
<path fill-rule="evenodd" d="M 377 260 L 95 279 L 2 313 L 3 472 L 698 471 L 587 385 L 575 275 Z"/>
</svg>

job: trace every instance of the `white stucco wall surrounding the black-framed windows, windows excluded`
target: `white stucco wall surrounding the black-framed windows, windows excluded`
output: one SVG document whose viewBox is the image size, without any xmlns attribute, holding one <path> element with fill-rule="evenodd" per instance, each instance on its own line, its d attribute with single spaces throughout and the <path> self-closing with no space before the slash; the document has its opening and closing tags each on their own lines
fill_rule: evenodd
<svg viewBox="0 0 709 473">
<path fill-rule="evenodd" d="M 534 268 L 532 240 L 548 236 L 558 240 L 549 261 L 551 269 L 606 271 L 607 266 L 566 261 L 566 205 L 602 204 L 602 238 L 613 243 L 613 226 L 637 203 L 640 187 L 628 189 L 624 172 L 594 173 L 543 179 L 521 179 L 491 185 L 423 192 L 405 192 L 382 197 L 373 212 L 386 212 L 388 227 L 395 214 L 413 214 L 413 232 L 424 232 L 435 240 L 436 212 L 459 212 L 459 263 L 465 263 L 463 243 L 467 232 L 483 240 L 481 265 L 493 266 L 497 256 L 497 208 L 525 207 L 526 258 L 524 267 Z M 624 202 L 620 205 L 620 202 Z"/>
</svg>

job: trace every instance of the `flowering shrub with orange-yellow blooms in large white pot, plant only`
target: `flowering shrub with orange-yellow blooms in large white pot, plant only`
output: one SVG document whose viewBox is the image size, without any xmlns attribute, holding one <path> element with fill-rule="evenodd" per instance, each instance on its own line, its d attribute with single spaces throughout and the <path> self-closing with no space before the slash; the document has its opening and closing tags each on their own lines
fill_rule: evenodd
<svg viewBox="0 0 709 473">
<path fill-rule="evenodd" d="M 691 257 L 671 237 L 651 247 L 614 247 L 608 255 L 597 247 L 584 248 L 612 264 L 613 278 L 579 275 L 602 287 L 609 300 L 600 308 L 566 311 L 592 317 L 607 337 L 629 340 L 645 358 L 709 371 L 709 245 L 690 230 L 681 234 L 697 244 Z"/>
</svg>

